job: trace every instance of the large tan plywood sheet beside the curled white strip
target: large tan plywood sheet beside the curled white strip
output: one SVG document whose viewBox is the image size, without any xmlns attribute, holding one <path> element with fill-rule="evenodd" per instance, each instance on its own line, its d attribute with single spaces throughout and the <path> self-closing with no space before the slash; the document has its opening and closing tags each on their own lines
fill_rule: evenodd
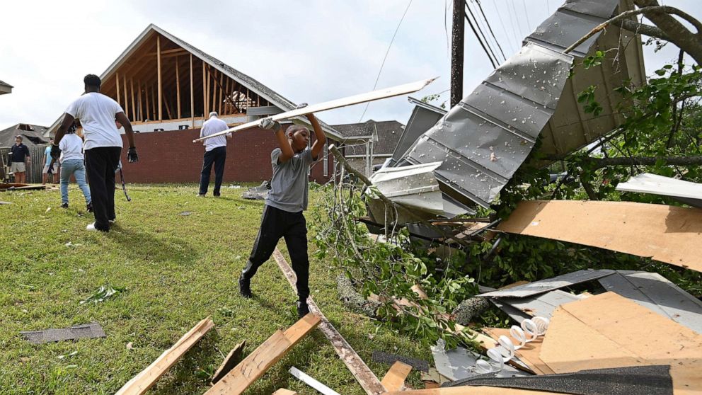
<svg viewBox="0 0 702 395">
<path fill-rule="evenodd" d="M 557 373 L 670 365 L 674 392 L 702 391 L 702 335 L 614 292 L 556 309 L 541 360 Z"/>
</svg>

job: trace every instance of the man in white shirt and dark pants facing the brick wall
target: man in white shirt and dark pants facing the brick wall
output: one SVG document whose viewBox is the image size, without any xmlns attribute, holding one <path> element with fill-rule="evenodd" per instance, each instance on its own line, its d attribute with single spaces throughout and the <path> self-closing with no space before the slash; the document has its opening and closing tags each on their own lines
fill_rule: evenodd
<svg viewBox="0 0 702 395">
<path fill-rule="evenodd" d="M 202 123 L 200 138 L 224 132 L 227 129 L 229 129 L 229 126 L 226 125 L 226 122 L 217 118 L 217 111 L 212 111 L 212 113 L 209 113 L 209 120 Z M 202 172 L 200 172 L 200 192 L 197 193 L 200 197 L 207 194 L 212 164 L 214 164 L 214 190 L 212 190 L 212 195 L 219 197 L 219 187 L 221 187 L 221 179 L 224 176 L 226 139 L 231 139 L 231 133 L 227 133 L 226 138 L 224 135 L 221 135 L 202 142 L 202 145 L 205 146 L 205 158 L 202 160 Z"/>
</svg>

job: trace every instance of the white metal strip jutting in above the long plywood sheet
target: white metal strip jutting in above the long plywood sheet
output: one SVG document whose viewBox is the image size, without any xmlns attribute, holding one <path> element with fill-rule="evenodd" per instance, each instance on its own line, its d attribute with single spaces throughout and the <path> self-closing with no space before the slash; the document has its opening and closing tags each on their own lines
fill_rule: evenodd
<svg viewBox="0 0 702 395">
<path fill-rule="evenodd" d="M 680 202 L 702 208 L 702 184 L 677 180 L 676 178 L 641 173 L 629 178 L 626 183 L 616 185 L 616 190 L 670 196 Z"/>
</svg>

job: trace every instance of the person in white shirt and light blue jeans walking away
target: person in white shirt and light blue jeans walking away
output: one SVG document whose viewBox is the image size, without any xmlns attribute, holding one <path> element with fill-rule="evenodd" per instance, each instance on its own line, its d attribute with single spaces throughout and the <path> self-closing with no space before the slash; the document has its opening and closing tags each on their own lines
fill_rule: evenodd
<svg viewBox="0 0 702 395">
<path fill-rule="evenodd" d="M 86 210 L 93 211 L 90 188 L 86 182 L 86 166 L 83 157 L 83 139 L 76 134 L 76 125 L 71 125 L 59 142 L 61 149 L 61 207 L 68 208 L 68 184 L 71 176 L 76 178 L 78 187 L 86 198 Z"/>
</svg>

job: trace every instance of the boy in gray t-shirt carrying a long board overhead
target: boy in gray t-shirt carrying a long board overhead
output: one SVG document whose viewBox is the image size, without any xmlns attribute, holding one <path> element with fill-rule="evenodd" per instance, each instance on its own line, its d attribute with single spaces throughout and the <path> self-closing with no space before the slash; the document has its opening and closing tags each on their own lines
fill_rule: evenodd
<svg viewBox="0 0 702 395">
<path fill-rule="evenodd" d="M 309 166 L 319 158 L 326 136 L 314 115 L 307 115 L 316 140 L 309 147 L 309 130 L 301 125 L 290 125 L 283 132 L 280 123 L 265 118 L 260 127 L 275 132 L 278 147 L 270 153 L 273 176 L 270 193 L 265 200 L 258 236 L 253 242 L 251 256 L 239 277 L 239 292 L 251 297 L 251 277 L 270 258 L 281 237 L 285 239 L 297 275 L 297 314 L 309 313 L 309 258 L 307 255 L 307 224 L 302 214 L 307 210 Z"/>
</svg>

